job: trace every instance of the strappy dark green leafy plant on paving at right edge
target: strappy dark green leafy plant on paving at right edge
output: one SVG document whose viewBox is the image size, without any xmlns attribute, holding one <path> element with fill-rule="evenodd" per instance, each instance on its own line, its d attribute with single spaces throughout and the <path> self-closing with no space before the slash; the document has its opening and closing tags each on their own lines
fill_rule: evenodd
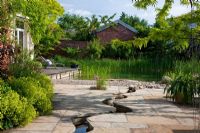
<svg viewBox="0 0 200 133">
<path fill-rule="evenodd" d="M 172 81 L 165 88 L 166 95 L 178 103 L 191 104 L 195 95 L 199 96 L 199 75 L 186 73 L 173 74 Z"/>
</svg>

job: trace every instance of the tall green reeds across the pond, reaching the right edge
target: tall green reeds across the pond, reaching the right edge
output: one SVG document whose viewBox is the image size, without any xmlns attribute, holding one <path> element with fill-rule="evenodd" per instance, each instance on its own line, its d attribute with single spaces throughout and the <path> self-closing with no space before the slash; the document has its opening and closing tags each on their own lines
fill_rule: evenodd
<svg viewBox="0 0 200 133">
<path fill-rule="evenodd" d="M 59 63 L 70 66 L 72 59 L 59 57 Z M 142 81 L 159 81 L 168 72 L 200 73 L 200 61 L 180 61 L 170 58 L 138 58 L 129 60 L 114 59 L 79 59 L 82 69 L 81 79 L 94 79 L 96 76 L 105 79 L 135 79 Z"/>
</svg>

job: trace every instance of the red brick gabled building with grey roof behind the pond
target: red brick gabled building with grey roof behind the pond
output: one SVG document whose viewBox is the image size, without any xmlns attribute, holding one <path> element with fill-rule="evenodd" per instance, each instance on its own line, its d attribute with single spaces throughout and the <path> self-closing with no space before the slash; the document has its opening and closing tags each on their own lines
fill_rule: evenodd
<svg viewBox="0 0 200 133">
<path fill-rule="evenodd" d="M 108 43 L 113 39 L 121 41 L 133 40 L 137 30 L 121 20 L 116 20 L 114 25 L 103 26 L 96 30 L 96 36 L 102 43 Z"/>
</svg>

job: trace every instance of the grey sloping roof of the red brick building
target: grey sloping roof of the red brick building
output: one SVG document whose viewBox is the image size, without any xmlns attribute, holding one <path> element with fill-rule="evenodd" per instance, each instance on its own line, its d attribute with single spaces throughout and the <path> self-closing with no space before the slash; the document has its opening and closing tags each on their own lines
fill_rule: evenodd
<svg viewBox="0 0 200 133">
<path fill-rule="evenodd" d="M 134 32 L 134 33 L 138 33 L 138 31 L 137 31 L 135 28 L 133 28 L 132 26 L 130 26 L 130 25 L 126 24 L 126 23 L 124 23 L 124 22 L 121 21 L 121 20 L 116 20 L 116 21 L 114 21 L 114 23 L 115 23 L 115 24 L 120 24 L 120 25 L 124 26 L 125 28 L 127 28 L 128 30 L 130 30 L 130 31 L 132 31 L 132 32 Z M 109 28 L 109 27 L 111 27 L 111 26 L 112 26 L 112 25 L 105 25 L 105 26 L 102 26 L 101 28 L 97 29 L 96 32 L 101 32 L 101 31 L 103 31 L 103 30 L 105 30 L 105 29 L 107 29 L 107 28 Z"/>
</svg>

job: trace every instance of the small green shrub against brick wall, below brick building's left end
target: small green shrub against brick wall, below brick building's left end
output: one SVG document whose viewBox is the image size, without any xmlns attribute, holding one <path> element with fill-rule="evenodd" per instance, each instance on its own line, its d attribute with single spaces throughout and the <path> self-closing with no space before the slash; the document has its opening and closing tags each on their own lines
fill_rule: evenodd
<svg viewBox="0 0 200 133">
<path fill-rule="evenodd" d="M 99 40 L 93 40 L 87 47 L 87 54 L 91 59 L 99 59 L 102 55 L 102 50 L 104 47 Z"/>
</svg>

